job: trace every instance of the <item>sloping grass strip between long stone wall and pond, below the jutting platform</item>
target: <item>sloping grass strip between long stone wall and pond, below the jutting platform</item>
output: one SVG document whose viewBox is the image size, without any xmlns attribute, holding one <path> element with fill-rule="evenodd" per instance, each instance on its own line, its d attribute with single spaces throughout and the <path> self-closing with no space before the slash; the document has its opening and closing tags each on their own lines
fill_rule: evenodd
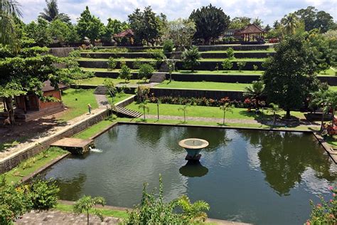
<svg viewBox="0 0 337 225">
<path fill-rule="evenodd" d="M 30 157 L 14 169 L 11 169 L 9 172 L 5 173 L 6 181 L 16 183 L 20 181 L 23 177 L 28 176 L 29 174 L 35 172 L 37 169 L 40 169 L 44 165 L 51 162 L 56 157 L 64 155 L 67 151 L 60 149 L 59 147 L 50 147 L 48 150 L 45 150 L 34 157 Z"/>
</svg>

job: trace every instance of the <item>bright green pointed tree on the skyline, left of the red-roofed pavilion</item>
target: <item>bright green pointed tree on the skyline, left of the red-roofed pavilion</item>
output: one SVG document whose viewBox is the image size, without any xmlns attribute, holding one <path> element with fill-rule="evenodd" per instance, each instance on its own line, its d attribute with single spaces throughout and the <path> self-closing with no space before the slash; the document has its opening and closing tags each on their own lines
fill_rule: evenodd
<svg viewBox="0 0 337 225">
<path fill-rule="evenodd" d="M 80 19 L 77 23 L 77 33 L 82 40 L 85 37 L 90 39 L 91 43 L 94 43 L 96 39 L 102 37 L 104 31 L 104 24 L 96 16 L 90 14 L 88 6 L 85 7 L 85 11 L 82 12 Z"/>
</svg>

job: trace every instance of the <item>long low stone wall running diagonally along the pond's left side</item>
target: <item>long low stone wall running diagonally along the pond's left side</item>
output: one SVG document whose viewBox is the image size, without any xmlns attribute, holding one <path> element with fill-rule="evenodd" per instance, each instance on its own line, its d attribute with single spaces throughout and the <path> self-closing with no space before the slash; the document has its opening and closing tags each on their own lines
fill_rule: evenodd
<svg viewBox="0 0 337 225">
<path fill-rule="evenodd" d="M 13 169 L 20 162 L 22 162 L 25 159 L 28 159 L 28 157 L 33 157 L 34 155 L 37 155 L 39 152 L 42 152 L 43 150 L 48 149 L 48 147 L 50 147 L 50 145 L 53 142 L 60 140 L 63 137 L 72 137 L 78 132 L 81 132 L 82 130 L 87 129 L 87 127 L 90 127 L 94 125 L 95 123 L 100 122 L 101 120 L 105 119 L 105 117 L 107 117 L 108 114 L 109 114 L 109 110 L 105 110 L 103 112 L 97 113 L 97 115 L 89 117 L 86 120 L 77 122 L 75 125 L 72 125 L 71 127 L 69 127 L 67 130 L 64 130 L 63 132 L 58 132 L 55 135 L 50 135 L 45 140 L 38 142 L 38 144 L 33 145 L 32 147 L 28 147 L 26 150 L 21 150 L 20 152 L 16 152 L 15 155 L 11 155 L 10 157 L 1 159 L 0 174 L 4 172 L 8 172 L 9 170 Z"/>
</svg>

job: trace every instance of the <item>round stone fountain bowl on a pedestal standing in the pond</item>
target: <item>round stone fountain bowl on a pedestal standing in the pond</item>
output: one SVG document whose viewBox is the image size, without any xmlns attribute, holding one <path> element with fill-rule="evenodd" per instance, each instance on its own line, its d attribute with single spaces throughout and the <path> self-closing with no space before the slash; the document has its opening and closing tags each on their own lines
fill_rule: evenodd
<svg viewBox="0 0 337 225">
<path fill-rule="evenodd" d="M 200 151 L 203 150 L 203 148 L 208 147 L 209 143 L 203 139 L 188 138 L 181 140 L 178 145 L 186 150 L 186 160 L 199 160 L 201 157 Z"/>
</svg>

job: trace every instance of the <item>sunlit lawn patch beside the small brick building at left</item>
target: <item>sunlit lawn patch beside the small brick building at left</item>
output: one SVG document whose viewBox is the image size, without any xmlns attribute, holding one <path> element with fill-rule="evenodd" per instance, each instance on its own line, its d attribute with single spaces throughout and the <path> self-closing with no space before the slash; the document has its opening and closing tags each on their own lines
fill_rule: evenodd
<svg viewBox="0 0 337 225">
<path fill-rule="evenodd" d="M 68 108 L 60 117 L 60 120 L 68 121 L 73 118 L 83 115 L 87 112 L 87 104 L 92 106 L 92 109 L 98 107 L 95 99 L 94 90 L 73 89 L 65 90 L 62 94 L 63 104 Z"/>
</svg>

